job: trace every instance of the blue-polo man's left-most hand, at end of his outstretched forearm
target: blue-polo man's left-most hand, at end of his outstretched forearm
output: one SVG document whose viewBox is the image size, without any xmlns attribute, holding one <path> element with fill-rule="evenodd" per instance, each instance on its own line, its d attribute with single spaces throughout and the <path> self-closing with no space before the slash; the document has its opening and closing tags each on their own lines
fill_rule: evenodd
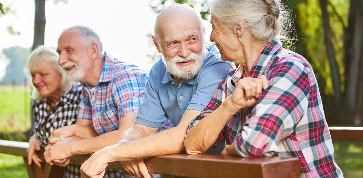
<svg viewBox="0 0 363 178">
<path fill-rule="evenodd" d="M 107 153 L 110 152 L 110 147 L 106 147 L 98 152 L 95 152 L 87 161 L 81 165 L 82 178 L 101 178 L 105 175 L 107 162 Z"/>
</svg>

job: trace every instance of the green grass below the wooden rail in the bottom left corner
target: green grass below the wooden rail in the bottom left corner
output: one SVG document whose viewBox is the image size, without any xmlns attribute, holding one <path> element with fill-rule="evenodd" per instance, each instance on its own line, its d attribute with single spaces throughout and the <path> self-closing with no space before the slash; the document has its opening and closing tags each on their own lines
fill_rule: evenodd
<svg viewBox="0 0 363 178">
<path fill-rule="evenodd" d="M 0 177 L 1 178 L 28 177 L 23 157 L 0 153 Z"/>
</svg>

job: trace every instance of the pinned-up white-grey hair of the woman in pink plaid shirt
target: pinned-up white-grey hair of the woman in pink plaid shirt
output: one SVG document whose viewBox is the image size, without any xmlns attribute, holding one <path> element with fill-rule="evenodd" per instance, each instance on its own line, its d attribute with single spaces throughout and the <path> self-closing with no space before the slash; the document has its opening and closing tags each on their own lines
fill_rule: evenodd
<svg viewBox="0 0 363 178">
<path fill-rule="evenodd" d="M 253 36 L 263 42 L 275 37 L 291 44 L 289 33 L 293 33 L 290 12 L 285 10 L 281 0 L 213 0 L 209 12 L 227 29 L 244 20 Z"/>
</svg>

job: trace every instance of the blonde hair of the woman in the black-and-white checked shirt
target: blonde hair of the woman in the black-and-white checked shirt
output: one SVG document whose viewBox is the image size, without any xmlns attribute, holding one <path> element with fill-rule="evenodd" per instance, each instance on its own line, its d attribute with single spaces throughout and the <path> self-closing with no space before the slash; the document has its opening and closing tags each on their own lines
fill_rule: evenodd
<svg viewBox="0 0 363 178">
<path fill-rule="evenodd" d="M 69 90 L 75 86 L 75 82 L 72 82 L 68 79 L 66 71 L 58 65 L 59 55 L 56 52 L 56 49 L 51 47 L 46 47 L 44 45 L 38 46 L 34 49 L 28 57 L 28 61 L 26 62 L 25 72 L 28 75 L 29 84 L 32 87 L 32 95 L 30 98 L 34 100 L 42 100 L 44 97 L 39 95 L 38 90 L 34 87 L 32 83 L 31 73 L 34 73 L 39 69 L 39 67 L 44 65 L 44 62 L 47 62 L 53 69 L 55 69 L 58 73 L 62 75 L 61 80 L 61 92 L 68 93 Z"/>
</svg>

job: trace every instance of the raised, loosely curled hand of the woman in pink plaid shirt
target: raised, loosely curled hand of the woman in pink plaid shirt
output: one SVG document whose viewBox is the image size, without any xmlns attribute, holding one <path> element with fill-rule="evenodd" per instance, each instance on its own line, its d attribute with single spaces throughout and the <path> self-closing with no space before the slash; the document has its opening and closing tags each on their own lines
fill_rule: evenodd
<svg viewBox="0 0 363 178">
<path fill-rule="evenodd" d="M 237 86 L 229 98 L 231 98 L 232 112 L 237 113 L 242 108 L 250 107 L 258 101 L 262 90 L 268 87 L 266 76 L 258 78 L 245 77 L 238 80 Z"/>
</svg>

